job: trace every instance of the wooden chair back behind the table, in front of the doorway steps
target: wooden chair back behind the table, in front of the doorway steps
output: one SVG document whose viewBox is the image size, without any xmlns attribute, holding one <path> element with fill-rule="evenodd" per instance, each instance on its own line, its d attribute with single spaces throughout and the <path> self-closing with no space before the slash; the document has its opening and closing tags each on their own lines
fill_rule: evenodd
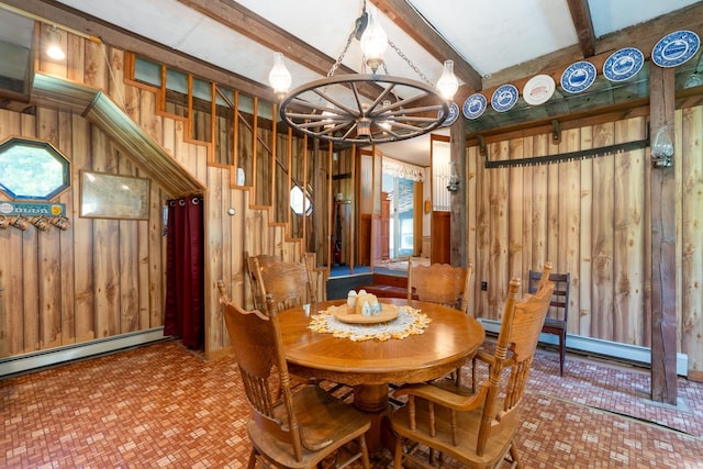
<svg viewBox="0 0 703 469">
<path fill-rule="evenodd" d="M 457 310 L 468 311 L 469 283 L 473 264 L 467 267 L 453 267 L 448 264 L 414 265 L 408 261 L 408 303 L 413 293 L 421 301 L 444 304 Z"/>
</svg>

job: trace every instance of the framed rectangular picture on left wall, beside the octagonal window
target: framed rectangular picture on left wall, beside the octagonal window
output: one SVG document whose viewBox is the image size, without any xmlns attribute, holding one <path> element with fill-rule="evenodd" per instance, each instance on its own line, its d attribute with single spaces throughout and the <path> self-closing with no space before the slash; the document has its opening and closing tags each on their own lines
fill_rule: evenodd
<svg viewBox="0 0 703 469">
<path fill-rule="evenodd" d="M 148 220 L 149 180 L 80 171 L 80 216 Z"/>
</svg>

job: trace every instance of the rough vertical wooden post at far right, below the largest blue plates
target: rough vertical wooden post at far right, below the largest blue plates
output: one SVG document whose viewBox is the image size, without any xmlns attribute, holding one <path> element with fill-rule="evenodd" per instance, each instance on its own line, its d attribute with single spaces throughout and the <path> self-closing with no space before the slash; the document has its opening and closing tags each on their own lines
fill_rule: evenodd
<svg viewBox="0 0 703 469">
<path fill-rule="evenodd" d="M 676 186 L 671 161 L 655 155 L 657 133 L 666 125 L 674 139 L 673 68 L 652 66 L 650 78 L 649 213 L 651 222 L 651 399 L 677 403 Z M 654 153 L 652 153 L 654 152 Z M 658 156 L 657 158 L 655 156 Z"/>
</svg>

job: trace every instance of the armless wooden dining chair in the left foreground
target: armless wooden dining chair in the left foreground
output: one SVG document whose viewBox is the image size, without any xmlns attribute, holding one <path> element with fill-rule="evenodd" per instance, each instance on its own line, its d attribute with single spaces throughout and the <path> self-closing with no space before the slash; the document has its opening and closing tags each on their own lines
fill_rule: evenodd
<svg viewBox="0 0 703 469">
<path fill-rule="evenodd" d="M 228 300 L 222 281 L 217 288 L 252 411 L 248 467 L 313 468 L 345 447 L 350 456 L 337 467 L 360 459 L 368 469 L 369 417 L 314 383 L 291 388 L 274 297 L 264 312 L 245 311 Z"/>
</svg>

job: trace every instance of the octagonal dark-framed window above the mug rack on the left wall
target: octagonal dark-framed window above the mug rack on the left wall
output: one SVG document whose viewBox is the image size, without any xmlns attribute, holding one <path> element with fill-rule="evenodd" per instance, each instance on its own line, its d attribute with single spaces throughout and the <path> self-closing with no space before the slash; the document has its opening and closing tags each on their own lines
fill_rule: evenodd
<svg viewBox="0 0 703 469">
<path fill-rule="evenodd" d="M 0 190 L 13 200 L 52 200 L 70 187 L 70 163 L 48 142 L 0 144 Z"/>
</svg>

